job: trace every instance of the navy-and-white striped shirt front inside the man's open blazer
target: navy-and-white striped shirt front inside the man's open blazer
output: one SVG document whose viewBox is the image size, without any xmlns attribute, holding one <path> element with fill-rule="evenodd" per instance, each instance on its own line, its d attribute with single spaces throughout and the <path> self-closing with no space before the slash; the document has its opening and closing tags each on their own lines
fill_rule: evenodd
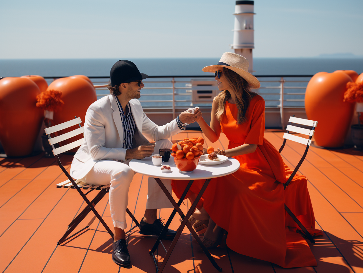
<svg viewBox="0 0 363 273">
<path fill-rule="evenodd" d="M 122 140 L 122 148 L 124 149 L 131 149 L 132 148 L 132 138 L 136 132 L 136 124 L 134 121 L 134 117 L 132 116 L 130 103 L 127 103 L 125 112 L 123 112 L 122 106 L 120 101 L 118 100 L 117 96 L 118 109 L 120 111 L 121 120 L 122 120 L 122 129 L 123 129 L 123 140 Z"/>
</svg>

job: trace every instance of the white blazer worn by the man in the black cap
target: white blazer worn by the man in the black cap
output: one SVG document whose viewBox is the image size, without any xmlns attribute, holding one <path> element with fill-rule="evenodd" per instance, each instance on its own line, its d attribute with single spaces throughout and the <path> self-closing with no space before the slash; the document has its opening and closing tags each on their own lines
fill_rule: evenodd
<svg viewBox="0 0 363 273">
<path fill-rule="evenodd" d="M 163 126 L 153 123 L 142 111 L 138 99 L 130 100 L 130 108 L 137 128 L 134 135 L 137 146 L 150 143 L 148 139 L 157 141 L 182 132 L 176 119 Z M 85 177 L 98 160 L 125 160 L 126 156 L 126 149 L 122 148 L 122 120 L 114 95 L 105 96 L 90 105 L 84 127 L 82 145 L 70 167 L 70 175 L 75 179 Z"/>
</svg>

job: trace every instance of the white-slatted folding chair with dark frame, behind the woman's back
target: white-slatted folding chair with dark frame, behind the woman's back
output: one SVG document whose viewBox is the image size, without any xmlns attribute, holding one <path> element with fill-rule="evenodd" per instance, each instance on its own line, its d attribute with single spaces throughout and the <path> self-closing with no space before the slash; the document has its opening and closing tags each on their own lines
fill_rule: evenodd
<svg viewBox="0 0 363 273">
<path fill-rule="evenodd" d="M 301 127 L 291 125 L 291 123 L 297 124 Z M 311 138 L 314 136 L 315 127 L 317 127 L 318 121 L 314 120 L 308 120 L 308 119 L 300 119 L 298 117 L 295 117 L 293 115 L 289 119 L 289 125 L 287 125 L 287 132 L 284 133 L 284 142 L 281 145 L 280 150 L 278 150 L 279 153 L 281 153 L 282 149 L 284 149 L 286 140 L 292 140 L 295 142 L 299 142 L 301 144 L 306 145 L 306 149 L 304 154 L 302 155 L 301 160 L 295 167 L 293 173 L 291 173 L 289 179 L 287 179 L 287 182 L 284 184 L 284 189 L 286 189 L 287 186 L 289 186 L 291 180 L 294 178 L 295 174 L 299 170 L 299 167 L 301 166 L 302 162 L 304 161 L 307 151 L 309 150 L 309 146 L 311 144 Z M 294 136 L 290 134 L 291 132 L 300 133 L 309 136 L 309 138 L 303 138 L 299 136 Z M 291 218 L 298 224 L 298 226 L 301 228 L 302 232 L 305 234 L 305 236 L 311 241 L 311 243 L 315 243 L 315 240 L 313 239 L 313 236 L 306 230 L 306 228 L 303 226 L 303 224 L 297 219 L 297 217 L 293 214 L 293 212 L 286 206 L 285 204 L 285 210 L 286 212 L 291 216 Z"/>
</svg>

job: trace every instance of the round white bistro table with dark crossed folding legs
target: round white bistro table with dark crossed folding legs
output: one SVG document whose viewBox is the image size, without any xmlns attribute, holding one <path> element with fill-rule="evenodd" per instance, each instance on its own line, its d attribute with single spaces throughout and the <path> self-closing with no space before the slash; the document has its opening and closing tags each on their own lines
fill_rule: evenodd
<svg viewBox="0 0 363 273">
<path fill-rule="evenodd" d="M 240 167 L 240 162 L 238 162 L 236 159 L 229 157 L 227 161 L 218 164 L 218 165 L 202 165 L 202 164 L 198 164 L 197 168 L 191 172 L 191 173 L 181 173 L 179 171 L 179 169 L 176 167 L 175 163 L 174 163 L 174 158 L 170 157 L 170 160 L 168 162 L 163 162 L 163 165 L 169 165 L 171 167 L 171 172 L 170 173 L 162 173 L 162 171 L 160 170 L 160 166 L 154 166 L 152 164 L 152 160 L 151 157 L 146 157 L 143 160 L 137 160 L 137 159 L 133 159 L 130 161 L 129 166 L 133 171 L 136 171 L 136 173 L 140 173 L 140 174 L 144 174 L 147 175 L 149 177 L 154 177 L 156 182 L 158 183 L 158 185 L 160 186 L 160 188 L 163 190 L 163 192 L 165 193 L 165 195 L 167 196 L 167 198 L 170 200 L 170 202 L 173 204 L 174 206 L 174 210 L 171 213 L 168 221 L 166 222 L 162 232 L 160 233 L 160 235 L 158 236 L 158 239 L 156 240 L 154 247 L 151 249 L 150 251 L 150 255 L 152 255 L 152 257 L 154 258 L 154 262 L 155 262 L 155 266 L 156 266 L 156 272 L 161 273 L 166 265 L 166 263 L 168 262 L 168 259 L 181 235 L 181 232 L 183 231 L 184 227 L 187 226 L 189 231 L 191 232 L 191 234 L 193 235 L 193 237 L 195 238 L 195 240 L 197 241 L 197 243 L 199 244 L 199 246 L 201 247 L 201 249 L 203 250 L 203 252 L 205 253 L 205 255 L 207 255 L 209 261 L 211 261 L 211 263 L 213 264 L 213 266 L 218 270 L 218 271 L 222 271 L 222 269 L 217 265 L 217 262 L 213 259 L 213 257 L 211 256 L 211 253 L 209 253 L 209 251 L 205 248 L 205 246 L 203 245 L 203 243 L 201 242 L 200 238 L 198 237 L 197 233 L 194 231 L 194 229 L 192 228 L 191 224 L 188 222 L 188 219 L 190 217 L 190 215 L 193 214 L 193 211 L 195 210 L 197 203 L 199 202 L 202 194 L 204 193 L 205 189 L 207 188 L 209 182 L 211 181 L 212 178 L 215 177 L 221 177 L 221 176 L 225 176 L 231 173 L 234 173 L 236 170 L 238 170 L 238 168 Z M 169 193 L 169 191 L 166 189 L 166 187 L 164 186 L 163 182 L 160 180 L 160 178 L 163 179 L 174 179 L 174 180 L 189 180 L 189 183 L 187 185 L 187 187 L 185 188 L 183 194 L 181 195 L 181 198 L 179 199 L 178 203 L 175 202 L 174 198 L 171 196 L 171 194 Z M 183 202 L 185 196 L 188 193 L 188 190 L 190 189 L 190 187 L 193 184 L 193 181 L 196 179 L 206 179 L 204 182 L 203 187 L 201 188 L 199 194 L 197 195 L 197 198 L 195 199 L 195 201 L 193 202 L 193 204 L 191 205 L 191 207 L 189 208 L 188 212 L 186 215 L 183 214 L 183 212 L 180 209 L 180 205 Z M 176 212 L 178 212 L 178 214 L 180 215 L 182 222 L 180 224 L 180 227 L 178 228 L 178 231 L 176 232 L 176 236 L 174 238 L 174 240 L 172 241 L 170 248 L 168 249 L 168 251 L 166 251 L 161 239 L 163 238 L 164 234 L 166 233 L 171 220 L 174 218 Z M 162 262 L 162 264 L 160 265 L 160 267 L 158 268 L 158 263 L 155 259 L 154 256 L 154 252 L 156 251 L 156 249 L 158 248 L 158 245 L 162 244 L 164 250 L 166 251 L 166 255 L 165 258 Z"/>
</svg>

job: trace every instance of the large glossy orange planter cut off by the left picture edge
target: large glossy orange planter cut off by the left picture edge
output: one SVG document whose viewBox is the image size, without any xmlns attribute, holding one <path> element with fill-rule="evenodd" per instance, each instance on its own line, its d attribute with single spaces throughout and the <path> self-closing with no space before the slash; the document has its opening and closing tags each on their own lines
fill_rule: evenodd
<svg viewBox="0 0 363 273">
<path fill-rule="evenodd" d="M 43 121 L 37 108 L 39 87 L 28 78 L 0 80 L 0 141 L 7 156 L 32 153 Z"/>
</svg>

